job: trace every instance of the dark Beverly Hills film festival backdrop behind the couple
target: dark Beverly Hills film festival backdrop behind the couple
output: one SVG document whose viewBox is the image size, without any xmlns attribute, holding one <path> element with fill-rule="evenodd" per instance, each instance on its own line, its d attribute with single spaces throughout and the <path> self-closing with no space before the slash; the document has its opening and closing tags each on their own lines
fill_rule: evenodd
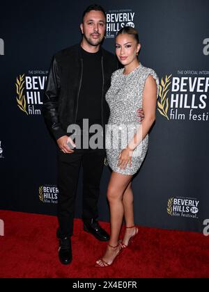
<svg viewBox="0 0 209 292">
<path fill-rule="evenodd" d="M 202 232 L 209 218 L 209 1 L 99 1 L 103 47 L 123 26 L 139 31 L 140 62 L 157 72 L 160 94 L 148 154 L 133 181 L 139 225 Z M 56 214 L 56 146 L 42 117 L 52 56 L 81 40 L 91 1 L 6 1 L 0 19 L 0 209 Z M 106 163 L 105 163 L 106 164 Z M 104 166 L 100 220 L 109 221 Z M 82 213 L 82 170 L 76 217 Z"/>
</svg>

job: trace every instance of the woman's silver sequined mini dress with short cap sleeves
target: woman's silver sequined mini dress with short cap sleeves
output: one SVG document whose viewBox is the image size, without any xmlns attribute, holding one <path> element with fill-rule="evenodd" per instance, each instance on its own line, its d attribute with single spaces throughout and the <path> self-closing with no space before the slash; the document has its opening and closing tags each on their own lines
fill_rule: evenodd
<svg viewBox="0 0 209 292">
<path fill-rule="evenodd" d="M 139 129 L 141 122 L 137 109 L 142 107 L 144 84 L 152 75 L 157 83 L 159 79 L 153 69 L 144 67 L 141 63 L 130 74 L 123 74 L 123 69 L 116 70 L 111 75 L 111 86 L 106 94 L 110 109 L 109 121 L 106 126 L 105 147 L 107 162 L 111 170 L 122 175 L 134 175 L 139 170 L 148 150 L 148 134 L 134 149 L 132 165 L 127 164 L 125 170 L 118 167 L 118 156 Z"/>
</svg>

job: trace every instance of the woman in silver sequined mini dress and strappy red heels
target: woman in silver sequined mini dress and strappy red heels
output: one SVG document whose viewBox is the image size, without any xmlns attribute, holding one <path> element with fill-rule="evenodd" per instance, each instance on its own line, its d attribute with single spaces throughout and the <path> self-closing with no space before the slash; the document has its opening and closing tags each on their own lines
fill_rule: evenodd
<svg viewBox="0 0 209 292">
<path fill-rule="evenodd" d="M 134 225 L 132 177 L 139 170 L 148 149 L 148 131 L 155 121 L 159 80 L 154 70 L 138 60 L 139 37 L 126 26 L 116 36 L 116 56 L 124 65 L 111 76 L 106 100 L 110 108 L 106 129 L 107 161 L 112 170 L 107 198 L 110 206 L 111 236 L 104 256 L 96 266 L 113 263 L 123 248 L 139 232 Z M 137 108 L 143 108 L 144 120 L 138 122 Z M 125 216 L 125 235 L 119 241 Z"/>
</svg>

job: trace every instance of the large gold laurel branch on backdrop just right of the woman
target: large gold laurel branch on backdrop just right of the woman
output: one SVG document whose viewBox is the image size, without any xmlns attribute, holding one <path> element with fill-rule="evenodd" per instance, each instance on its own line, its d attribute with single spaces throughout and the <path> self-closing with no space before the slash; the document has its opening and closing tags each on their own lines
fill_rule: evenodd
<svg viewBox="0 0 209 292">
<path fill-rule="evenodd" d="M 165 81 L 163 79 L 161 79 L 161 84 L 160 84 L 160 92 L 159 92 L 159 97 L 160 97 L 160 101 L 157 101 L 157 110 L 161 113 L 161 115 L 163 115 L 164 117 L 167 117 L 167 119 L 169 120 L 169 117 L 167 115 L 167 111 L 169 109 L 169 98 L 167 97 L 167 93 L 169 92 L 169 89 L 167 89 L 169 87 L 169 85 L 171 84 L 170 78 L 171 78 L 172 74 L 167 76 L 165 78 Z"/>
</svg>

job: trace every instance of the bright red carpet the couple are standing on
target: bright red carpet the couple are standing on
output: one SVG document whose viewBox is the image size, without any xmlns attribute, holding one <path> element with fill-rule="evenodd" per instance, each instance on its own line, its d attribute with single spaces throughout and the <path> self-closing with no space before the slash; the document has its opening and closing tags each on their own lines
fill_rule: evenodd
<svg viewBox="0 0 209 292">
<path fill-rule="evenodd" d="M 209 237 L 139 227 L 139 236 L 113 266 L 95 268 L 107 243 L 100 243 L 75 220 L 73 261 L 59 263 L 54 216 L 0 211 L 5 236 L 0 236 L 0 277 L 15 278 L 144 278 L 209 277 Z M 101 223 L 109 230 L 108 223 Z"/>
</svg>

